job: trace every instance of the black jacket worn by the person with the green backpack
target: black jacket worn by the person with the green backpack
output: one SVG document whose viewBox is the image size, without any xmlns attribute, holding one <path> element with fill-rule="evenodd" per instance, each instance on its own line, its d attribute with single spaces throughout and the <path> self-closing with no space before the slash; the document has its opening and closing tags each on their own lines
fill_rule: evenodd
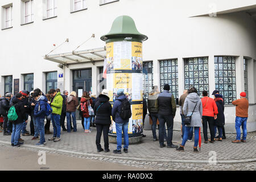
<svg viewBox="0 0 256 182">
<path fill-rule="evenodd" d="M 18 98 L 13 99 L 13 105 L 15 107 L 16 114 L 18 115 L 18 119 L 13 123 L 23 123 L 27 119 L 26 109 L 22 100 L 18 100 Z"/>
</svg>

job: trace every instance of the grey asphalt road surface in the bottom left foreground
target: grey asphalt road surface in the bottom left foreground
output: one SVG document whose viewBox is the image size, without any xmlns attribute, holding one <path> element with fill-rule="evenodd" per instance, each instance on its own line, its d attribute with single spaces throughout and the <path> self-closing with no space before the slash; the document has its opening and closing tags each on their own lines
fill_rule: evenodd
<svg viewBox="0 0 256 182">
<path fill-rule="evenodd" d="M 63 154 L 39 154 L 21 147 L 0 147 L 0 171 L 146 171 L 149 169 L 125 164 L 101 162 Z M 38 162 L 39 160 L 39 162 Z M 44 161 L 46 164 L 44 164 Z M 39 164 L 41 163 L 41 164 Z"/>
</svg>

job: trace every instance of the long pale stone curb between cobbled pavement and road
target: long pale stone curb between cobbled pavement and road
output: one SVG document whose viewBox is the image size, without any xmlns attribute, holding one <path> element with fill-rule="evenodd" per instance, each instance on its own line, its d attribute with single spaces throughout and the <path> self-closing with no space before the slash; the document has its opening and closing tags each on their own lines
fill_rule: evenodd
<svg viewBox="0 0 256 182">
<path fill-rule="evenodd" d="M 4 142 L 0 140 L 0 144 L 4 146 L 10 146 L 10 142 Z M 68 155 L 80 155 L 84 157 L 90 158 L 105 158 L 105 159 L 118 159 L 118 160 L 134 160 L 139 162 L 162 162 L 162 163 L 195 163 L 195 164 L 210 164 L 209 160 L 181 160 L 181 159 L 146 159 L 146 158 L 130 158 L 130 157 L 122 157 L 122 156 L 108 156 L 108 155 L 100 155 L 100 154 L 88 154 L 83 152 L 75 152 L 75 151 L 68 151 L 68 150 L 61 150 L 56 148 L 48 148 L 48 147 L 39 147 L 39 146 L 32 146 L 30 144 L 23 144 L 20 146 L 21 148 L 30 148 L 34 150 L 43 150 L 49 152 L 55 152 L 60 154 L 68 154 Z M 212 162 L 212 161 L 210 161 Z M 256 162 L 256 158 L 251 159 L 241 159 L 241 160 L 217 160 L 216 164 L 238 164 L 238 163 L 250 163 Z M 212 164 L 214 165 L 214 164 Z"/>
</svg>

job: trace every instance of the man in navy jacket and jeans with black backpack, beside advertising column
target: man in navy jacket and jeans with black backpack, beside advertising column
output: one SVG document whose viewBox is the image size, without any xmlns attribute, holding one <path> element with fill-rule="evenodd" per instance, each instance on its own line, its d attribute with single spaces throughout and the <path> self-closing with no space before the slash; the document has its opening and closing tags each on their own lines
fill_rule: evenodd
<svg viewBox="0 0 256 182">
<path fill-rule="evenodd" d="M 117 150 L 114 150 L 113 152 L 114 154 L 121 154 L 123 131 L 123 151 L 127 153 L 129 146 L 128 125 L 129 118 L 131 117 L 131 105 L 126 98 L 123 89 L 117 90 L 117 98 L 113 105 L 112 117 L 115 122 L 115 129 L 117 130 Z"/>
</svg>

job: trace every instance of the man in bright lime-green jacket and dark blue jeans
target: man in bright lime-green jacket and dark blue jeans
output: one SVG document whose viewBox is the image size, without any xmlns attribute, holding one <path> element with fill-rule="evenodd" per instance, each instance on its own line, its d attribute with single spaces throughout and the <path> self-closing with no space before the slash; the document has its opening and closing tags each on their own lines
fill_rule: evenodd
<svg viewBox="0 0 256 182">
<path fill-rule="evenodd" d="M 55 89 L 49 90 L 51 100 L 48 101 L 48 104 L 52 107 L 52 126 L 53 126 L 53 137 L 49 138 L 49 141 L 59 142 L 60 141 L 60 115 L 63 104 L 63 97 L 60 92 L 56 92 Z"/>
</svg>

